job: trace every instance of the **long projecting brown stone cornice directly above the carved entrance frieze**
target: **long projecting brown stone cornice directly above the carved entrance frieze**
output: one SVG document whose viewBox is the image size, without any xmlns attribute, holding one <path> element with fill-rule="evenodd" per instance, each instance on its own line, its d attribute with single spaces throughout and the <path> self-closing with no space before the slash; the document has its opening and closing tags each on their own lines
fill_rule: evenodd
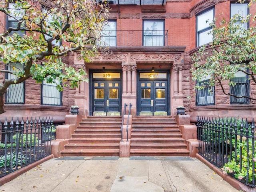
<svg viewBox="0 0 256 192">
<path fill-rule="evenodd" d="M 144 47 L 113 47 L 111 52 L 184 52 L 186 46 L 144 46 Z"/>
</svg>

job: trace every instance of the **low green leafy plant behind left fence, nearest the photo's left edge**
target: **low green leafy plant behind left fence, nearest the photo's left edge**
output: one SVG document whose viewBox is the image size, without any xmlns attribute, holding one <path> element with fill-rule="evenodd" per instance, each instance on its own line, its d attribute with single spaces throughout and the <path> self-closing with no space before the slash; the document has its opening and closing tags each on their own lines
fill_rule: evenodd
<svg viewBox="0 0 256 192">
<path fill-rule="evenodd" d="M 26 159 L 26 156 L 23 154 L 22 155 L 22 163 L 26 163 L 26 161 L 28 160 L 28 157 Z M 6 155 L 6 166 L 7 167 L 10 167 L 11 166 L 11 154 L 8 153 Z M 5 158 L 4 158 L 4 155 L 0 156 L 0 168 L 1 167 L 4 167 L 4 163 L 5 163 Z M 18 153 L 18 166 L 21 165 L 21 154 Z M 12 168 L 14 168 L 16 166 L 16 152 L 13 152 L 12 153 Z"/>
</svg>

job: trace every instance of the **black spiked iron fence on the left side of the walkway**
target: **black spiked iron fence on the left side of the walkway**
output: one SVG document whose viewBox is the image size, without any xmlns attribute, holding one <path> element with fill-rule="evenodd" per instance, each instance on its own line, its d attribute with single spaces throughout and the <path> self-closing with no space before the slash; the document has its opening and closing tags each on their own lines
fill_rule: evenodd
<svg viewBox="0 0 256 192">
<path fill-rule="evenodd" d="M 50 117 L 0 123 L 0 177 L 50 155 L 55 133 Z"/>
</svg>

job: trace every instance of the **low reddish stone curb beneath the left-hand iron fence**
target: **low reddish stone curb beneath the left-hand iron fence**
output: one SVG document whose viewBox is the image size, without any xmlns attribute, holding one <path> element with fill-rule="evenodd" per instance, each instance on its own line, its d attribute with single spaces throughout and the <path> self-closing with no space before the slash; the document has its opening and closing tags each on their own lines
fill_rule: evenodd
<svg viewBox="0 0 256 192">
<path fill-rule="evenodd" d="M 22 167 L 19 170 L 16 170 L 12 173 L 7 174 L 6 176 L 0 178 L 0 186 L 9 182 L 9 181 L 11 181 L 11 180 L 13 180 L 13 179 L 15 179 L 16 177 L 20 176 L 21 174 L 27 172 L 28 170 L 42 164 L 43 162 L 46 162 L 47 160 L 49 160 L 51 158 L 53 158 L 53 154 L 48 155 L 48 156 L 46 156 L 46 157 L 44 157 L 44 158 L 42 158 L 42 159 L 40 159 L 36 162 L 33 162 L 33 163 L 25 166 L 25 167 Z"/>
</svg>

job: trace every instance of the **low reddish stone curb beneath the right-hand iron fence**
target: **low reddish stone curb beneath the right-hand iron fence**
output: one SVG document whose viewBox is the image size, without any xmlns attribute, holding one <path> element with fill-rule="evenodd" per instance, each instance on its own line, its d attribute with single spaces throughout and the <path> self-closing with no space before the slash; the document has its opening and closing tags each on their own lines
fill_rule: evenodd
<svg viewBox="0 0 256 192">
<path fill-rule="evenodd" d="M 228 182 L 231 186 L 233 186 L 237 190 L 241 190 L 244 192 L 255 192 L 256 191 L 256 188 L 247 186 L 247 185 L 239 182 L 235 178 L 232 178 L 231 176 L 224 174 L 220 168 L 216 167 L 214 164 L 211 164 L 210 162 L 208 162 L 205 158 L 203 158 L 199 154 L 196 154 L 196 158 L 198 160 L 200 160 L 201 162 L 203 162 L 204 164 L 206 164 L 211 170 L 216 172 L 219 176 L 221 176 L 223 178 L 223 180 Z"/>
</svg>

